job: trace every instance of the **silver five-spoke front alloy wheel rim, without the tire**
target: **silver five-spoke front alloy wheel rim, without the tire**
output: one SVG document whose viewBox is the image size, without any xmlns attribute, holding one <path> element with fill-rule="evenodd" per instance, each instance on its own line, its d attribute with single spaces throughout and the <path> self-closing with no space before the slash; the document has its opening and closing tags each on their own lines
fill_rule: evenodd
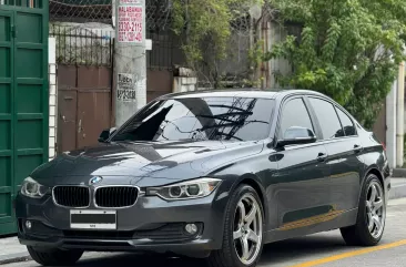
<svg viewBox="0 0 406 267">
<path fill-rule="evenodd" d="M 233 239 L 235 251 L 244 265 L 254 263 L 262 244 L 262 210 L 255 197 L 244 194 L 234 216 Z"/>
</svg>

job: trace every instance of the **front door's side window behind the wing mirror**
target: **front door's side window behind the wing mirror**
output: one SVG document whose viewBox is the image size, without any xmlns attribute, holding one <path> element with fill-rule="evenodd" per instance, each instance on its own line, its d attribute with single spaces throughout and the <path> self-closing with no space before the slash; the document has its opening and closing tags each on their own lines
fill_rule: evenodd
<svg viewBox="0 0 406 267">
<path fill-rule="evenodd" d="M 311 116 L 302 99 L 294 99 L 285 104 L 282 112 L 280 137 L 292 126 L 306 127 L 314 132 Z"/>
</svg>

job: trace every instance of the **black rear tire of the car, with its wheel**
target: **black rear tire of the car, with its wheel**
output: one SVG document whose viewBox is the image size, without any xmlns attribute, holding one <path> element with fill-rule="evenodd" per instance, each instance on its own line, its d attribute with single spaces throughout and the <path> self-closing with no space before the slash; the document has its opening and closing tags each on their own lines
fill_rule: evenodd
<svg viewBox="0 0 406 267">
<path fill-rule="evenodd" d="M 374 203 L 372 203 L 371 198 L 374 196 L 373 188 L 375 187 L 376 198 Z M 358 204 L 358 215 L 357 222 L 355 225 L 341 228 L 342 236 L 345 243 L 349 246 L 375 246 L 379 243 L 384 229 L 385 229 L 385 219 L 386 219 L 386 201 L 385 201 L 385 189 L 379 178 L 374 174 L 368 174 L 359 197 Z M 378 199 L 380 199 L 382 204 L 378 204 Z M 379 208 L 379 205 L 382 205 Z M 376 214 L 377 216 L 373 216 L 372 214 Z M 379 219 L 380 224 L 376 224 L 377 219 Z M 373 229 L 371 229 L 371 222 L 373 222 Z"/>
</svg>

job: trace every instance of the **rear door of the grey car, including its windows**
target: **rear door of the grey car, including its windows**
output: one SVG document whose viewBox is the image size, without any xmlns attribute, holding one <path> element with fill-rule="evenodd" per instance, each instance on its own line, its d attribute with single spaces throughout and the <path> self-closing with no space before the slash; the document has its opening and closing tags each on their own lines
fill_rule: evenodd
<svg viewBox="0 0 406 267">
<path fill-rule="evenodd" d="M 322 130 L 331 167 L 331 202 L 339 212 L 358 206 L 363 160 L 361 140 L 346 112 L 325 99 L 308 97 Z"/>
</svg>

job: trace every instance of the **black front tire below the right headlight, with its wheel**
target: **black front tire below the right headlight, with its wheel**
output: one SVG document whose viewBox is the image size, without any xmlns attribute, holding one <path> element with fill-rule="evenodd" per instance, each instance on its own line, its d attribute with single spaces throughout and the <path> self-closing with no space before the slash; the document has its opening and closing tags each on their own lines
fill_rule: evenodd
<svg viewBox="0 0 406 267">
<path fill-rule="evenodd" d="M 252 206 L 250 207 L 250 203 Z M 246 204 L 246 205 L 245 205 Z M 242 206 L 245 214 L 250 215 L 255 206 L 257 213 L 252 223 L 242 222 Z M 253 214 L 253 213 L 252 213 Z M 245 218 L 248 218 L 244 216 Z M 223 232 L 222 249 L 212 251 L 207 258 L 211 267 L 254 267 L 260 260 L 263 248 L 263 233 L 265 229 L 264 208 L 256 191 L 245 184 L 240 185 L 232 194 L 225 210 L 225 223 Z M 253 233 L 255 235 L 253 235 Z M 234 240 L 234 234 L 236 234 Z M 240 237 L 238 237 L 240 236 Z M 254 239 L 257 240 L 256 245 Z M 246 240 L 246 242 L 244 242 Z M 250 257 L 244 257 L 243 247 L 254 248 L 253 253 L 247 253 Z M 245 249 L 245 251 L 247 251 Z"/>
</svg>

